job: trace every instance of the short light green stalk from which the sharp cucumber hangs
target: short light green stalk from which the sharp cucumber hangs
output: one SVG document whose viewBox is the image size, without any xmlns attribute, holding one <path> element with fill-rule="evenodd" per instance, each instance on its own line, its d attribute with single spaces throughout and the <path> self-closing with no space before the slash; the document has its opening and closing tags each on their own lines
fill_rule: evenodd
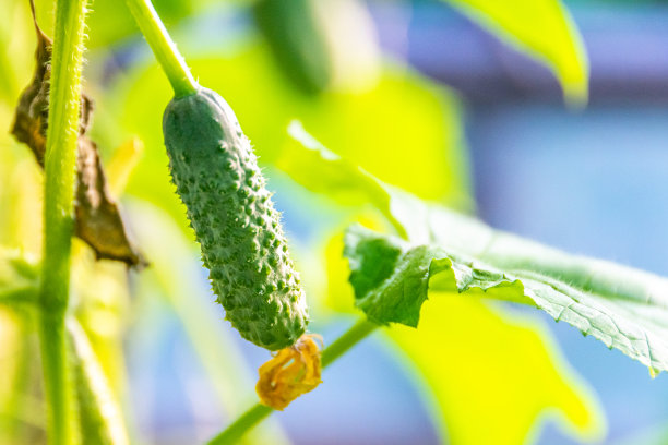
<svg viewBox="0 0 668 445">
<path fill-rule="evenodd" d="M 183 57 L 169 37 L 151 0 L 126 0 L 134 21 L 146 38 L 151 50 L 167 74 L 176 97 L 188 96 L 200 88 Z"/>
</svg>

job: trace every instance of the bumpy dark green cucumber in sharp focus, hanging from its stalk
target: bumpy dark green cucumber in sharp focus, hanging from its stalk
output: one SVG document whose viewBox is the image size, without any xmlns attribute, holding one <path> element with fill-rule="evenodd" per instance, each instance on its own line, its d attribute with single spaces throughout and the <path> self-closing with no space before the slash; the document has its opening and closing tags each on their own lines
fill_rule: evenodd
<svg viewBox="0 0 668 445">
<path fill-rule="evenodd" d="M 279 213 L 234 111 L 201 88 L 169 103 L 163 132 L 172 181 L 226 318 L 258 346 L 291 346 L 306 330 L 306 297 Z"/>
</svg>

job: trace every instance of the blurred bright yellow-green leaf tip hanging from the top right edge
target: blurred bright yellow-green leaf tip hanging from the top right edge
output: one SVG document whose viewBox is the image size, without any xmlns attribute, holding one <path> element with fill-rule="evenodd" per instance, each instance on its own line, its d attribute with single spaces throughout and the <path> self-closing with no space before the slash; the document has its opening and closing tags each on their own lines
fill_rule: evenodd
<svg viewBox="0 0 668 445">
<path fill-rule="evenodd" d="M 515 48 L 544 61 L 565 98 L 587 100 L 588 62 L 582 37 L 560 0 L 445 0 Z"/>
</svg>

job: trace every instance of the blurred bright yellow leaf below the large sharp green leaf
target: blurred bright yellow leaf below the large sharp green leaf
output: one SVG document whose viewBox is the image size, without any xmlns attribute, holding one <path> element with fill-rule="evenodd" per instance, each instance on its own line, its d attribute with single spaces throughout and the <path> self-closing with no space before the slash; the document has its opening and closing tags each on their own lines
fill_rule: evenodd
<svg viewBox="0 0 668 445">
<path fill-rule="evenodd" d="M 418 329 L 383 330 L 406 358 L 449 443 L 532 443 L 539 431 L 532 425 L 547 419 L 583 441 L 603 436 L 596 399 L 541 323 L 468 296 L 431 297 Z"/>
</svg>

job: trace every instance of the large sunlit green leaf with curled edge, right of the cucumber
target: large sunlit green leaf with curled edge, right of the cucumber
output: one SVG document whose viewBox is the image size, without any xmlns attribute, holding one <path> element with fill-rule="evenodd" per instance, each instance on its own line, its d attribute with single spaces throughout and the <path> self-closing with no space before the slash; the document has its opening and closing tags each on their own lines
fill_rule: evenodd
<svg viewBox="0 0 668 445">
<path fill-rule="evenodd" d="M 294 179 L 313 191 L 324 191 L 323 182 L 332 188 L 342 182 L 342 169 L 332 168 L 333 163 L 343 163 L 341 158 L 302 131 L 291 135 L 296 142 L 303 141 L 293 149 L 301 147 L 310 159 L 308 172 L 287 171 Z M 416 326 L 428 288 L 473 291 L 534 304 L 639 360 L 653 373 L 668 370 L 667 279 L 494 230 L 373 181 L 361 168 L 348 165 L 346 175 L 347 193 L 331 193 L 339 202 L 355 204 L 344 197 L 360 184 L 360 193 L 391 215 L 398 233 L 408 240 L 361 228 L 348 234 L 346 252 L 357 305 L 372 320 Z M 432 277 L 437 279 L 430 282 Z"/>
</svg>

